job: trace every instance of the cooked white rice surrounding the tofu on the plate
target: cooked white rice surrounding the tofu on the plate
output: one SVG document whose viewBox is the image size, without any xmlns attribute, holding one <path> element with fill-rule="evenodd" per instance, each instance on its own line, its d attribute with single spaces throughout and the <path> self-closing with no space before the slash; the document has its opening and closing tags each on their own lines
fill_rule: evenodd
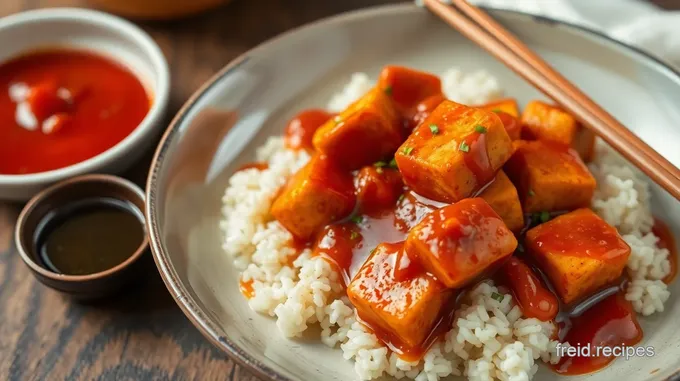
<svg viewBox="0 0 680 381">
<path fill-rule="evenodd" d="M 498 81 L 483 71 L 448 70 L 442 75 L 442 85 L 447 97 L 460 103 L 480 104 L 502 95 Z M 366 74 L 354 74 L 327 108 L 340 111 L 372 86 Z M 292 237 L 273 220 L 269 208 L 278 189 L 309 156 L 287 150 L 281 137 L 271 137 L 258 150 L 257 160 L 266 161 L 269 167 L 237 172 L 225 192 L 224 250 L 243 270 L 242 281 L 252 282 L 250 307 L 275 317 L 286 337 L 300 336 L 310 325 L 319 324 L 321 341 L 339 346 L 363 380 L 388 374 L 417 381 L 449 375 L 475 381 L 527 381 L 536 373 L 539 359 L 559 361 L 558 342 L 551 340 L 555 327 L 522 317 L 512 295 L 491 281 L 468 293 L 443 342 L 416 363 L 400 359 L 356 321 L 341 277 L 326 260 L 305 250 L 290 263 L 295 253 L 287 244 Z M 628 268 L 633 281 L 626 298 L 644 315 L 663 311 L 669 292 L 660 279 L 670 266 L 668 251 L 656 246 L 658 238 L 651 233 L 648 185 L 604 146 L 598 147 L 591 170 L 598 180 L 593 208 L 619 229 L 632 249 Z M 501 294 L 502 301 L 492 298 L 493 293 Z"/>
</svg>

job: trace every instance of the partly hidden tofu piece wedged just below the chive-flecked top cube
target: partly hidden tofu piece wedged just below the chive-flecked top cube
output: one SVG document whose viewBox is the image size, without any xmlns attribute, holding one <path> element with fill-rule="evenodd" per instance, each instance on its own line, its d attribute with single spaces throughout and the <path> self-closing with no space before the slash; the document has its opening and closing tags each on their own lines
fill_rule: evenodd
<svg viewBox="0 0 680 381">
<path fill-rule="evenodd" d="M 524 227 L 522 204 L 519 202 L 517 189 L 503 171 L 498 171 L 496 178 L 479 197 L 498 213 L 505 225 L 513 233 L 518 233 Z"/>
</svg>

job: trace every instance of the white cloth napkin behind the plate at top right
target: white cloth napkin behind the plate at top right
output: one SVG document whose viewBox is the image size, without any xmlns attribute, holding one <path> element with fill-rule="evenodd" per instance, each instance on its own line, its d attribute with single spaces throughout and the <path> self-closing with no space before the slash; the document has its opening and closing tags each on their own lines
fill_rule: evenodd
<svg viewBox="0 0 680 381">
<path fill-rule="evenodd" d="M 680 12 L 640 0 L 471 0 L 601 30 L 680 68 Z"/>
</svg>

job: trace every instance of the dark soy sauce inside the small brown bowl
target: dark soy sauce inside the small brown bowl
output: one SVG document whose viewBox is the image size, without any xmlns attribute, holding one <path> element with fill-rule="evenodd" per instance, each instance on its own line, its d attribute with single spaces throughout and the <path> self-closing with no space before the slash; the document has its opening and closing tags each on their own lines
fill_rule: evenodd
<svg viewBox="0 0 680 381">
<path fill-rule="evenodd" d="M 91 198 L 48 213 L 34 237 L 43 267 L 64 275 L 88 275 L 123 263 L 144 241 L 142 212 L 129 201 Z"/>
</svg>

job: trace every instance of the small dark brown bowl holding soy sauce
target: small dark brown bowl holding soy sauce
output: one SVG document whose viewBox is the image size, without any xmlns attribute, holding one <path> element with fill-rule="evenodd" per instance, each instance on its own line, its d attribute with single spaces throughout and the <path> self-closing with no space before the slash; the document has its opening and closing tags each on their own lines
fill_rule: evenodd
<svg viewBox="0 0 680 381">
<path fill-rule="evenodd" d="M 34 244 L 40 221 L 59 207 L 90 197 L 129 201 L 144 211 L 144 192 L 135 184 L 116 176 L 84 175 L 62 181 L 38 193 L 21 211 L 15 230 L 17 249 L 33 275 L 46 286 L 82 300 L 109 296 L 138 279 L 143 270 L 143 261 L 140 259 L 149 249 L 145 234 L 139 248 L 123 263 L 89 275 L 59 274 L 40 265 Z M 143 222 L 140 221 L 140 224 L 143 226 Z"/>
</svg>

